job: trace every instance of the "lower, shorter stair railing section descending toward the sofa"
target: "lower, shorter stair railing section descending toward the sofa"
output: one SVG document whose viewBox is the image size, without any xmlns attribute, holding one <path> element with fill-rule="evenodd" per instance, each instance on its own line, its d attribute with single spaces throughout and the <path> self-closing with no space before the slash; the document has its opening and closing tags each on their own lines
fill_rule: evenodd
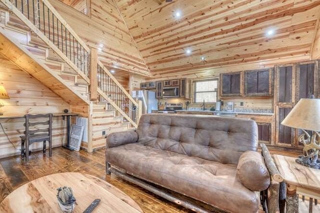
<svg viewBox="0 0 320 213">
<path fill-rule="evenodd" d="M 113 109 L 129 121 L 133 127 L 137 127 L 138 104 L 127 94 L 125 89 L 114 76 L 101 64 L 97 65 L 98 101 L 109 102 Z"/>
</svg>

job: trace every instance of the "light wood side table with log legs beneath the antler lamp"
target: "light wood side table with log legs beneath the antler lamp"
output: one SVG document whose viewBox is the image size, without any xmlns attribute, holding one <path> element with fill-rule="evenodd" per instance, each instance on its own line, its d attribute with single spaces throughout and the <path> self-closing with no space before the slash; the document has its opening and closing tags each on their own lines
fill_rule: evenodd
<svg viewBox="0 0 320 213">
<path fill-rule="evenodd" d="M 287 213 L 298 213 L 298 195 L 307 196 L 309 213 L 313 199 L 320 199 L 320 170 L 295 163 L 295 158 L 273 155 L 275 164 L 286 183 L 285 206 Z"/>
</svg>

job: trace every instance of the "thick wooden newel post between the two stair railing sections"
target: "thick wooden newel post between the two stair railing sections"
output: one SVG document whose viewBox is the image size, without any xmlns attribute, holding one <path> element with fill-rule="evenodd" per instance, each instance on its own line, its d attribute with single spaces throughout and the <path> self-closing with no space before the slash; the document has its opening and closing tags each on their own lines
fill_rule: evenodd
<svg viewBox="0 0 320 213">
<path fill-rule="evenodd" d="M 90 101 L 96 101 L 97 99 L 97 78 L 96 78 L 96 70 L 97 70 L 97 64 L 98 63 L 98 53 L 95 48 L 91 48 L 91 54 L 90 54 Z"/>
</svg>

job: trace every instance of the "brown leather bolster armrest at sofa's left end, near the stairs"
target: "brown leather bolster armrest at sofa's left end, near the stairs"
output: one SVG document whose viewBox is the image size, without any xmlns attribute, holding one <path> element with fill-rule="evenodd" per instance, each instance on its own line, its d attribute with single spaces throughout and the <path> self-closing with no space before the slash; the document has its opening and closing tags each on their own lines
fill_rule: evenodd
<svg viewBox="0 0 320 213">
<path fill-rule="evenodd" d="M 134 131 L 113 132 L 106 137 L 106 148 L 135 143 L 138 134 Z"/>
</svg>

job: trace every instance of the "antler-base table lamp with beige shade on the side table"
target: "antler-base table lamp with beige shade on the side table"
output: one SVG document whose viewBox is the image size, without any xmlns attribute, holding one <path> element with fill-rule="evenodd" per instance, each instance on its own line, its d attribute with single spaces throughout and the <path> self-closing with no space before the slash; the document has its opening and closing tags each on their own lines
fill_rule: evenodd
<svg viewBox="0 0 320 213">
<path fill-rule="evenodd" d="M 281 124 L 303 131 L 303 134 L 299 136 L 299 142 L 304 145 L 303 156 L 299 156 L 295 162 L 313 169 L 320 169 L 318 160 L 320 99 L 301 98 Z M 306 130 L 312 131 L 312 135 L 310 136 Z"/>
</svg>

